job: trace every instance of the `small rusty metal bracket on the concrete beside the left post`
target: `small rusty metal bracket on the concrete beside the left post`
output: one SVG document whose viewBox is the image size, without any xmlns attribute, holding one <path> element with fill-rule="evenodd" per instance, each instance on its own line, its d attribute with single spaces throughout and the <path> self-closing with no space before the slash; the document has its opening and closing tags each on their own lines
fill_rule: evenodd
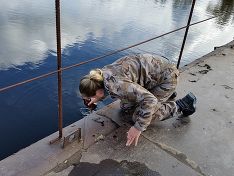
<svg viewBox="0 0 234 176">
<path fill-rule="evenodd" d="M 81 128 L 78 128 L 76 131 L 63 137 L 62 148 L 65 148 L 67 145 L 73 143 L 74 141 L 81 141 Z"/>
</svg>

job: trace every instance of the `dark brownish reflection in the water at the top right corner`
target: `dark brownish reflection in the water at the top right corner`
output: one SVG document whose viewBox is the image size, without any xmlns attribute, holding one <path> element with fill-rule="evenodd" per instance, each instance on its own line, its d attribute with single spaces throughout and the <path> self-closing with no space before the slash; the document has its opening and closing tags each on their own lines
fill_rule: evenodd
<svg viewBox="0 0 234 176">
<path fill-rule="evenodd" d="M 217 16 L 216 23 L 225 25 L 230 20 L 234 21 L 234 0 L 220 0 L 216 5 L 210 3 L 207 11 Z"/>
</svg>

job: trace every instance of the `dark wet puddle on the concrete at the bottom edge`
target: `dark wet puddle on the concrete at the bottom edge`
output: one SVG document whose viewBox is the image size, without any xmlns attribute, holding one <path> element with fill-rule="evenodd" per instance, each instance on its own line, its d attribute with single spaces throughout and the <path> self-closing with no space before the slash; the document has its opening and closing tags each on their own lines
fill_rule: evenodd
<svg viewBox="0 0 234 176">
<path fill-rule="evenodd" d="M 73 168 L 69 176 L 161 176 L 158 172 L 150 170 L 145 164 L 139 162 L 121 162 L 106 159 L 99 164 L 81 162 Z"/>
</svg>

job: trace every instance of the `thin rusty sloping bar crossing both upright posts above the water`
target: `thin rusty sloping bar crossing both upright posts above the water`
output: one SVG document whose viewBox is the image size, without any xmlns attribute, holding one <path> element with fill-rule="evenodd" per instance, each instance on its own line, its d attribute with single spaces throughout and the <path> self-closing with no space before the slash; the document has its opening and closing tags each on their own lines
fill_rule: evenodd
<svg viewBox="0 0 234 176">
<path fill-rule="evenodd" d="M 201 20 L 201 21 L 192 23 L 192 24 L 190 24 L 189 26 L 193 26 L 193 25 L 196 25 L 196 24 L 199 24 L 199 23 L 203 23 L 203 22 L 208 21 L 208 20 L 211 20 L 211 19 L 213 19 L 213 18 L 217 18 L 217 16 L 210 17 L 210 18 L 207 18 L 207 19 L 205 19 L 205 20 Z M 96 60 L 105 58 L 105 57 L 107 57 L 107 56 L 114 55 L 114 54 L 116 54 L 116 53 L 118 53 L 118 52 L 121 52 L 121 51 L 130 49 L 130 48 L 136 47 L 136 46 L 138 46 L 138 45 L 147 43 L 147 42 L 149 42 L 149 41 L 152 41 L 152 40 L 155 40 L 155 39 L 157 39 L 157 38 L 163 37 L 163 36 L 165 36 L 165 35 L 171 34 L 171 33 L 173 33 L 173 32 L 177 32 L 177 31 L 179 31 L 179 30 L 185 29 L 186 27 L 187 27 L 187 26 L 183 26 L 183 27 L 180 27 L 180 28 L 178 28 L 178 29 L 175 29 L 175 30 L 169 31 L 169 32 L 167 32 L 167 33 L 164 33 L 164 34 L 162 34 L 162 35 L 159 35 L 159 36 L 150 38 L 150 39 L 148 39 L 148 40 L 142 41 L 142 42 L 140 42 L 140 43 L 137 43 L 137 44 L 128 46 L 128 47 L 126 47 L 126 48 L 122 48 L 122 49 L 119 49 L 119 50 L 115 50 L 115 51 L 113 51 L 113 52 L 107 53 L 107 54 L 102 55 L 102 56 L 99 56 L 99 57 L 95 57 L 95 58 L 89 59 L 89 60 L 84 61 L 84 62 L 80 62 L 80 63 L 77 63 L 77 64 L 73 64 L 73 65 L 70 65 L 70 66 L 67 66 L 67 67 L 63 67 L 63 68 L 61 68 L 61 69 L 59 69 L 59 70 L 54 70 L 54 71 L 52 71 L 52 72 L 45 73 L 45 74 L 40 75 L 40 76 L 37 76 L 37 77 L 31 78 L 31 79 L 27 79 L 27 80 L 24 80 L 24 81 L 21 81 L 21 82 L 18 82 L 18 83 L 15 83 L 15 84 L 12 84 L 12 85 L 9 85 L 9 86 L 0 88 L 0 92 L 9 90 L 9 89 L 14 88 L 14 87 L 18 87 L 18 86 L 20 86 L 20 85 L 23 85 L 23 84 L 26 84 L 26 83 L 29 83 L 29 82 L 32 82 L 32 81 L 35 81 L 35 80 L 38 80 L 38 79 L 41 79 L 41 78 L 44 78 L 44 77 L 48 77 L 48 76 L 54 75 L 54 74 L 56 74 L 56 73 L 59 73 L 59 72 L 65 71 L 65 70 L 69 70 L 69 69 L 71 69 L 71 68 L 73 68 L 73 67 L 78 67 L 78 66 L 80 66 L 80 65 L 84 65 L 84 64 L 87 64 L 87 63 L 89 63 L 89 62 L 93 62 L 93 61 L 96 61 Z"/>
</svg>

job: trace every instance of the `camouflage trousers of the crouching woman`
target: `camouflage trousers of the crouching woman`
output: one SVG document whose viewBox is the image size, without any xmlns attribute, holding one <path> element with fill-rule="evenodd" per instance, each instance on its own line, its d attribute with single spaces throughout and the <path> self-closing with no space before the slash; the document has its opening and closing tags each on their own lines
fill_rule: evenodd
<svg viewBox="0 0 234 176">
<path fill-rule="evenodd" d="M 174 100 L 170 100 L 170 96 L 175 92 L 179 71 L 176 67 L 167 68 L 162 73 L 162 83 L 158 84 L 149 91 L 158 99 L 158 104 L 152 115 L 152 120 L 166 120 L 177 115 L 177 106 Z M 137 104 L 121 100 L 120 107 L 124 120 L 130 120 L 137 107 Z M 136 119 L 131 119 L 133 122 Z"/>
</svg>

